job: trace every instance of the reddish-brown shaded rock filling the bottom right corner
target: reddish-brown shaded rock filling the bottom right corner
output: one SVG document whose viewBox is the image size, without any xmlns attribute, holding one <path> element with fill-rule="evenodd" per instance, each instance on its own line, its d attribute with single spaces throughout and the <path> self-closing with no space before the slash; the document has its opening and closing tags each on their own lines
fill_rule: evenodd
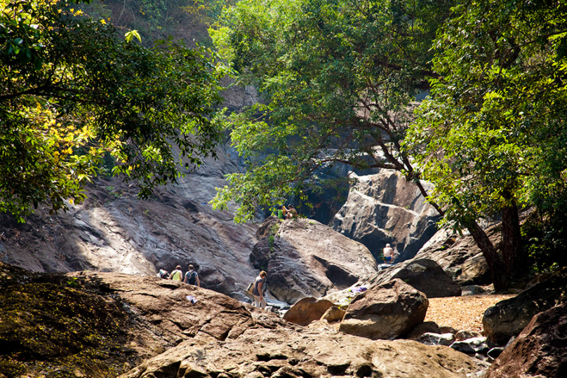
<svg viewBox="0 0 567 378">
<path fill-rule="evenodd" d="M 534 316 L 486 373 L 508 377 L 567 377 L 567 303 Z"/>
</svg>

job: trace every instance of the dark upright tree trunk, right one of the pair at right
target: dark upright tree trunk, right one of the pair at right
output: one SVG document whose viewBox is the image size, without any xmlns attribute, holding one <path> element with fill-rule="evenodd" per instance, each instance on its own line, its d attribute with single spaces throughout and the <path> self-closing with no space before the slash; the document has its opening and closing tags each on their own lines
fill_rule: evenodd
<svg viewBox="0 0 567 378">
<path fill-rule="evenodd" d="M 506 195 L 505 195 L 506 197 Z M 518 259 L 521 248 L 520 217 L 516 201 L 502 209 L 502 258 L 509 278 L 519 274 Z"/>
</svg>

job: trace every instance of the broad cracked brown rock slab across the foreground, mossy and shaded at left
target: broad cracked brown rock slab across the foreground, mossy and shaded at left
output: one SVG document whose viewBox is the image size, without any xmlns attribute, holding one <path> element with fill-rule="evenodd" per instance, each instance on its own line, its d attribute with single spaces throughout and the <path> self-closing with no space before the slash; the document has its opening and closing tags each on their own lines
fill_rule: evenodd
<svg viewBox="0 0 567 378">
<path fill-rule="evenodd" d="M 6 377 L 465 378 L 484 369 L 444 346 L 302 328 L 218 292 L 150 276 L 46 275 L 0 264 L 0 289 Z"/>
</svg>

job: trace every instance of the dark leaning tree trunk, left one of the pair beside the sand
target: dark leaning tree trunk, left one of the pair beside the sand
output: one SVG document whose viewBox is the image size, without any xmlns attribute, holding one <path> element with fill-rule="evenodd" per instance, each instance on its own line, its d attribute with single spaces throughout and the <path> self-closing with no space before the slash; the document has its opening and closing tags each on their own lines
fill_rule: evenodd
<svg viewBox="0 0 567 378">
<path fill-rule="evenodd" d="M 496 248 L 494 247 L 491 239 L 488 238 L 486 232 L 481 229 L 481 227 L 478 223 L 476 223 L 475 220 L 467 224 L 467 229 L 471 233 L 472 238 L 474 238 L 476 245 L 478 245 L 481 249 L 482 254 L 488 264 L 488 269 L 491 270 L 494 290 L 500 292 L 507 289 L 509 285 L 509 276 L 505 269 L 505 265 L 502 262 L 502 259 L 500 259 L 498 250 L 496 250 Z"/>
</svg>

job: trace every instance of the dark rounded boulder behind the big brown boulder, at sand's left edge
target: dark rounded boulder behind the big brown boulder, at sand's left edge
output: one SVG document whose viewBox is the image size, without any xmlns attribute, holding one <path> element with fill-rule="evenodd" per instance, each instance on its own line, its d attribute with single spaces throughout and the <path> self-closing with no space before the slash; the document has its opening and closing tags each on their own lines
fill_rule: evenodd
<svg viewBox="0 0 567 378">
<path fill-rule="evenodd" d="M 443 271 L 441 266 L 431 259 L 413 260 L 399 270 L 392 278 L 399 278 L 423 292 L 428 298 L 458 297 L 461 289 L 455 281 Z"/>
</svg>

